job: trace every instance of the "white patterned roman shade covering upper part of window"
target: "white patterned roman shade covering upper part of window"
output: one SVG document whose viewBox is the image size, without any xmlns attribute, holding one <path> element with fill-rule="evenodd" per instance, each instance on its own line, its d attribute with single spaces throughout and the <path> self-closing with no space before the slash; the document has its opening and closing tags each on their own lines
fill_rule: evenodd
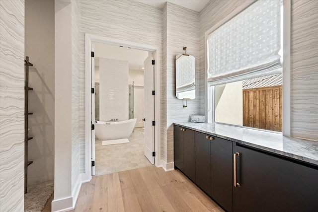
<svg viewBox="0 0 318 212">
<path fill-rule="evenodd" d="M 282 72 L 281 0 L 257 0 L 208 35 L 211 85 Z"/>
</svg>

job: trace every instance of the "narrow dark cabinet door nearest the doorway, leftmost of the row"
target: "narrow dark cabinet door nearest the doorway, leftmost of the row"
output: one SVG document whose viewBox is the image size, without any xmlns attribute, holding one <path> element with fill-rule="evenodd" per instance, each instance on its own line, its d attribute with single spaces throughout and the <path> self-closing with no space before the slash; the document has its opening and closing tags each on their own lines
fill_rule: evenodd
<svg viewBox="0 0 318 212">
<path fill-rule="evenodd" d="M 175 168 L 183 169 L 183 128 L 174 125 L 173 127 L 173 158 Z"/>
</svg>

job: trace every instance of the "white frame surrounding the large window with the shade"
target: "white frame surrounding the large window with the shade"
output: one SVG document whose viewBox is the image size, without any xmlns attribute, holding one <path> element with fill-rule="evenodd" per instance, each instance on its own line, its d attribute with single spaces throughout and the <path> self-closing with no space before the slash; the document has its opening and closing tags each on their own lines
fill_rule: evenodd
<svg viewBox="0 0 318 212">
<path fill-rule="evenodd" d="M 225 16 L 222 20 L 212 26 L 209 30 L 205 32 L 205 116 L 207 123 L 216 123 L 215 122 L 215 95 L 211 96 L 211 92 L 214 93 L 215 86 L 210 86 L 209 82 L 207 81 L 208 78 L 208 35 L 219 28 L 221 25 L 226 23 L 227 21 L 231 20 L 245 8 L 250 6 L 257 0 L 246 0 L 240 4 L 235 10 Z M 290 0 L 283 0 L 283 132 L 284 136 L 291 137 L 291 119 L 290 119 L 290 103 L 291 103 L 291 1 Z M 225 124 L 225 123 L 222 123 Z M 230 125 L 230 124 L 225 124 Z M 232 125 L 240 128 L 249 128 L 244 126 Z M 252 128 L 254 130 L 264 131 L 263 129 Z M 267 131 L 267 130 L 265 130 Z M 270 131 L 275 132 L 275 131 Z M 277 132 L 279 133 L 279 132 Z"/>
</svg>

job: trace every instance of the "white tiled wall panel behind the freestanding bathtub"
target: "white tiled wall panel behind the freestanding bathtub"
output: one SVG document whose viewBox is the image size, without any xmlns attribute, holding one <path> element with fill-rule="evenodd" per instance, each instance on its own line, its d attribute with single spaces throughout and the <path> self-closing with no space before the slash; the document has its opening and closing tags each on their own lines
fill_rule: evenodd
<svg viewBox="0 0 318 212">
<path fill-rule="evenodd" d="M 128 119 L 128 62 L 99 58 L 100 121 Z"/>
</svg>

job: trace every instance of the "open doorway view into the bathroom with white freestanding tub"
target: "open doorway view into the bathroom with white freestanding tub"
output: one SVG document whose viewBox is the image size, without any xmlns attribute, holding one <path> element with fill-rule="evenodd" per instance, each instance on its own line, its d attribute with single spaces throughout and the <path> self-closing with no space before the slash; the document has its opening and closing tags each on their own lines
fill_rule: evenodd
<svg viewBox="0 0 318 212">
<path fill-rule="evenodd" d="M 92 46 L 95 175 L 150 166 L 144 152 L 143 121 L 144 87 L 150 82 L 144 80 L 144 71 L 153 69 L 145 69 L 144 62 L 153 53 L 100 42 Z"/>
</svg>

